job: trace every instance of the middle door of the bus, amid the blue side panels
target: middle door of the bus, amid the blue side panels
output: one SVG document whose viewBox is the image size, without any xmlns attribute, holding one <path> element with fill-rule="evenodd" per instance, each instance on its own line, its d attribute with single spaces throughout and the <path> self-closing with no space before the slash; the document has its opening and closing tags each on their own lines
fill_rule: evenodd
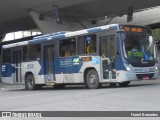
<svg viewBox="0 0 160 120">
<path fill-rule="evenodd" d="M 44 46 L 44 71 L 46 73 L 46 82 L 55 81 L 55 63 L 54 63 L 54 46 Z"/>
</svg>

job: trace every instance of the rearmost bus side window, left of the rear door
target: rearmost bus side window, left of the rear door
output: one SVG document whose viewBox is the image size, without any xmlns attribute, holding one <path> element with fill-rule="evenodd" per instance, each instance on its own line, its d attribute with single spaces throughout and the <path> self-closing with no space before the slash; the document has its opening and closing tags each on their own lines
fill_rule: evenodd
<svg viewBox="0 0 160 120">
<path fill-rule="evenodd" d="M 3 50 L 3 63 L 11 63 L 11 49 Z"/>
</svg>

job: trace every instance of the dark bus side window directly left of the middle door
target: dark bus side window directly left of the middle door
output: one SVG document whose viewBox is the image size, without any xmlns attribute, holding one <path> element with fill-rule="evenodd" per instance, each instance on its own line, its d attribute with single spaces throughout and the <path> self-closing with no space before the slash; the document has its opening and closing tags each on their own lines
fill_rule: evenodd
<svg viewBox="0 0 160 120">
<path fill-rule="evenodd" d="M 41 58 L 41 45 L 29 46 L 29 60 L 38 60 Z"/>
</svg>

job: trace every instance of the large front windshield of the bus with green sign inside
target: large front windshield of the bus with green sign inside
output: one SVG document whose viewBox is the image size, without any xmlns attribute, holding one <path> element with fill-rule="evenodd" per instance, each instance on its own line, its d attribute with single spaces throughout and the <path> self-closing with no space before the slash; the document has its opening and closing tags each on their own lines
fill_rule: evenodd
<svg viewBox="0 0 160 120">
<path fill-rule="evenodd" d="M 156 48 L 151 31 L 126 31 L 123 39 L 123 51 L 129 64 L 133 67 L 155 65 Z"/>
</svg>

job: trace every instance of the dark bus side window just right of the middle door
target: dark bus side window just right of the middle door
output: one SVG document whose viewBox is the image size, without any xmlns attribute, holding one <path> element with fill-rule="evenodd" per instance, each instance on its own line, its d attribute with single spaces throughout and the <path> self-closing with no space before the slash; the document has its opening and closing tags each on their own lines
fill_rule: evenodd
<svg viewBox="0 0 160 120">
<path fill-rule="evenodd" d="M 74 56 L 76 54 L 76 39 L 60 41 L 60 57 Z"/>
</svg>

